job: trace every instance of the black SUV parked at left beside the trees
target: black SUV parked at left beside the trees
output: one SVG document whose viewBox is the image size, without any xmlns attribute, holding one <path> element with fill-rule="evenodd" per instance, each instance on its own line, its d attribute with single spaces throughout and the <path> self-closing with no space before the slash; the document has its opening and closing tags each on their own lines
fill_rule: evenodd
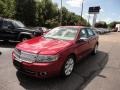
<svg viewBox="0 0 120 90">
<path fill-rule="evenodd" d="M 20 21 L 0 19 L 0 40 L 23 41 L 39 35 L 39 30 L 29 29 Z"/>
</svg>

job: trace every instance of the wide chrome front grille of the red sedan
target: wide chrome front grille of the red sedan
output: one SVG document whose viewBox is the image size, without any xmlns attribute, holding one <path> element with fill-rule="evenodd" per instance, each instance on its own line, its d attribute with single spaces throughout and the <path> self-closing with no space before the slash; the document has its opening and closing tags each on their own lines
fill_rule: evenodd
<svg viewBox="0 0 120 90">
<path fill-rule="evenodd" d="M 36 54 L 31 54 L 31 53 L 24 52 L 18 49 L 14 50 L 14 56 L 17 60 L 25 61 L 25 62 L 34 62 L 37 57 Z"/>
</svg>

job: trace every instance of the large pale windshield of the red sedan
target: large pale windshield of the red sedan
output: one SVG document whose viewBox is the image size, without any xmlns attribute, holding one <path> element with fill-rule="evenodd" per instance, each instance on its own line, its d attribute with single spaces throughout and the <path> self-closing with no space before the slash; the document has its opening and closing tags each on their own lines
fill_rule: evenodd
<svg viewBox="0 0 120 90">
<path fill-rule="evenodd" d="M 57 27 L 44 35 L 45 38 L 74 40 L 77 34 L 76 28 Z"/>
</svg>

